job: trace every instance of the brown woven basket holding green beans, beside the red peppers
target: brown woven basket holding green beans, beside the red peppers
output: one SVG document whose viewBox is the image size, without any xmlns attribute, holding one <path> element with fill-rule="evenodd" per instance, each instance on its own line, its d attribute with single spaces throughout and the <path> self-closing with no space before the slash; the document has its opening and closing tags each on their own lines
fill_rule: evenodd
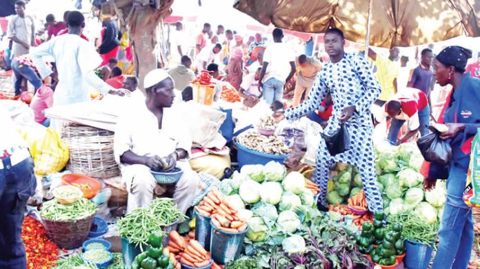
<svg viewBox="0 0 480 269">
<path fill-rule="evenodd" d="M 56 243 L 60 248 L 72 250 L 79 248 L 83 241 L 88 238 L 88 232 L 90 231 L 94 216 L 95 213 L 74 221 L 42 219 L 42 222 L 45 224 L 48 238 L 50 238 L 53 243 Z"/>
</svg>

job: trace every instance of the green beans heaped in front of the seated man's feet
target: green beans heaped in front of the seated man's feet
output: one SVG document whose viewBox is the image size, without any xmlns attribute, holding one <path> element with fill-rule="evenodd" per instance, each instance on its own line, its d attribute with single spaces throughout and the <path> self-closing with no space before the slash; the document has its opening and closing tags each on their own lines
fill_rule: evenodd
<svg viewBox="0 0 480 269">
<path fill-rule="evenodd" d="M 117 228 L 121 237 L 125 237 L 143 250 L 143 245 L 148 242 L 152 232 L 185 217 L 177 206 L 174 206 L 172 199 L 157 198 L 148 208 L 136 208 L 119 219 Z"/>
</svg>

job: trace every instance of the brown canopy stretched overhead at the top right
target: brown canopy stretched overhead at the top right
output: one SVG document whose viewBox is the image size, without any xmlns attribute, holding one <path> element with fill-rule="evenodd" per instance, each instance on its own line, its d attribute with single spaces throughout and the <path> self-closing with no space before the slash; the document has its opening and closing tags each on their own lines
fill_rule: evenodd
<svg viewBox="0 0 480 269">
<path fill-rule="evenodd" d="M 480 36 L 480 1 L 371 0 L 370 45 L 417 46 L 466 34 Z M 367 34 L 366 0 L 238 0 L 234 4 L 260 23 L 299 32 L 343 30 L 363 43 Z"/>
</svg>

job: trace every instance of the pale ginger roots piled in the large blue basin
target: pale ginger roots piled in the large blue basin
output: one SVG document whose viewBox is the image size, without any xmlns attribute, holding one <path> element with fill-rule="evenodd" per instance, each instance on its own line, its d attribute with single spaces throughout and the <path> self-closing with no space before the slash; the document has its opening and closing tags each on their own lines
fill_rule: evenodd
<svg viewBox="0 0 480 269">
<path fill-rule="evenodd" d="M 241 133 L 237 138 L 241 146 L 272 155 L 286 155 L 290 148 L 285 143 L 283 137 L 270 135 L 268 137 L 260 135 L 259 132 L 247 131 Z"/>
</svg>

